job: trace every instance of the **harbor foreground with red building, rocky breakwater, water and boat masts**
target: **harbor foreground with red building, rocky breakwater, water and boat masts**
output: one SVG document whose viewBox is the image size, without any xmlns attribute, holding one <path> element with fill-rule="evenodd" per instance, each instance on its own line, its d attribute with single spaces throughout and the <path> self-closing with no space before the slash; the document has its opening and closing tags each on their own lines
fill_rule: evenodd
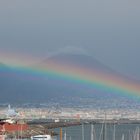
<svg viewBox="0 0 140 140">
<path fill-rule="evenodd" d="M 59 122 L 28 120 L 26 123 L 21 122 L 5 123 L 0 130 L 0 139 L 34 140 L 35 137 L 35 140 L 140 140 L 139 122 L 122 120 L 114 122 L 108 120 L 60 120 Z M 1 126 L 2 124 L 4 123 L 1 123 Z M 40 138 L 37 139 L 37 137 Z"/>
</svg>

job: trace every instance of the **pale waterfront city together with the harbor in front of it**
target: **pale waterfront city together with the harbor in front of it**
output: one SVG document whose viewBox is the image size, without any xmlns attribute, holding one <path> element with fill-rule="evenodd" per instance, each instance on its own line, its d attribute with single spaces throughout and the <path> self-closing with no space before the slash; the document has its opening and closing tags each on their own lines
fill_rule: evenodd
<svg viewBox="0 0 140 140">
<path fill-rule="evenodd" d="M 8 105 L 1 109 L 0 139 L 139 140 L 139 112 L 134 114 L 130 110 L 78 108 L 15 110 Z"/>
</svg>

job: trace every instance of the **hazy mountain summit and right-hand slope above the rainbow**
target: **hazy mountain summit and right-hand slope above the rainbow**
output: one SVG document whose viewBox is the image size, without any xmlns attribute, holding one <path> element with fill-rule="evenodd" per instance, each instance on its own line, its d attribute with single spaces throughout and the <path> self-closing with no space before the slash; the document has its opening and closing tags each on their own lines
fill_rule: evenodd
<svg viewBox="0 0 140 140">
<path fill-rule="evenodd" d="M 62 66 L 72 66 L 72 67 L 79 67 L 81 69 L 89 69 L 91 71 L 97 71 L 99 73 L 114 75 L 118 77 L 122 77 L 125 80 L 138 82 L 139 80 L 132 79 L 124 74 L 119 73 L 118 71 L 115 71 L 114 69 L 110 68 L 109 66 L 106 66 L 105 64 L 101 63 L 94 57 L 87 55 L 87 54 L 78 54 L 78 53 L 59 53 L 54 55 L 53 57 L 49 57 L 42 62 L 38 64 L 39 67 L 42 66 L 49 66 L 49 63 L 54 63 L 57 65 Z"/>
</svg>

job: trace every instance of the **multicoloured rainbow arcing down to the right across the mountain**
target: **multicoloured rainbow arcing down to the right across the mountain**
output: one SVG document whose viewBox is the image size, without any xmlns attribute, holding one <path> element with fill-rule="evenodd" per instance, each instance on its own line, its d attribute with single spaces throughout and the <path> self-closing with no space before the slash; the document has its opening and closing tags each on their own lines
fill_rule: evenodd
<svg viewBox="0 0 140 140">
<path fill-rule="evenodd" d="M 52 78 L 62 79 L 63 81 L 90 86 L 94 89 L 107 91 L 112 94 L 115 93 L 119 96 L 125 95 L 127 97 L 140 98 L 140 83 L 98 70 L 80 68 L 54 61 L 32 67 L 25 66 L 25 61 L 19 61 L 10 63 L 9 66 L 21 75 L 24 74 L 34 78 L 50 76 Z"/>
</svg>

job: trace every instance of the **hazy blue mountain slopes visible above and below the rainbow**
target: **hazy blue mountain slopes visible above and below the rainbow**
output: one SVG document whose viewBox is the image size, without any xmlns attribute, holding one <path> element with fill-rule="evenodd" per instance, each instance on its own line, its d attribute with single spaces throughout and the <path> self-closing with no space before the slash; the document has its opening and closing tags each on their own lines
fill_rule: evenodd
<svg viewBox="0 0 140 140">
<path fill-rule="evenodd" d="M 104 74 L 123 77 L 93 57 L 86 54 L 59 53 L 38 63 L 34 68 L 47 67 L 51 64 L 60 66 L 72 66 L 80 69 L 90 69 Z M 124 76 L 124 79 L 129 79 Z M 130 79 L 129 79 L 130 80 Z M 102 101 L 103 107 L 106 100 L 122 97 L 96 90 L 93 87 L 74 81 L 64 80 L 61 77 L 50 76 L 49 74 L 37 76 L 32 73 L 12 69 L 0 63 L 0 102 L 1 103 L 47 103 L 58 102 L 73 104 L 81 102 L 82 98 L 91 98 Z M 90 102 L 91 103 L 91 102 Z M 81 105 L 83 102 L 81 102 Z M 88 101 L 87 103 L 88 104 Z M 111 107 L 111 102 L 110 102 Z"/>
</svg>

